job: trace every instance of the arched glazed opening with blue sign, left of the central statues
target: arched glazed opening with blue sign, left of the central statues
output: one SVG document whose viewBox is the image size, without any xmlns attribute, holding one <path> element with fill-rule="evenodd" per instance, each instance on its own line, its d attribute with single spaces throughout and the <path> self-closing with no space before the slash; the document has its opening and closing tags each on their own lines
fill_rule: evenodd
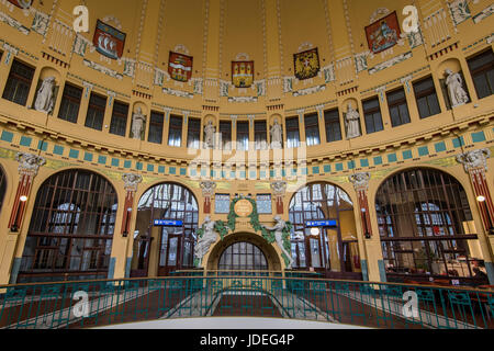
<svg viewBox="0 0 494 351">
<path fill-rule="evenodd" d="M 168 220 L 166 225 L 155 219 Z M 158 274 L 193 268 L 199 206 L 187 188 L 164 183 L 144 193 L 138 203 L 132 275 L 147 275 L 150 238 L 159 247 Z"/>
</svg>

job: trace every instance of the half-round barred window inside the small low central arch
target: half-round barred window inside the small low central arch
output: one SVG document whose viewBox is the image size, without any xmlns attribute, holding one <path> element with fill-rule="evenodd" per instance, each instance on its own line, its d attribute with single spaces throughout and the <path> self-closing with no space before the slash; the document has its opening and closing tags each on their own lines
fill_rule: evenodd
<svg viewBox="0 0 494 351">
<path fill-rule="evenodd" d="M 220 257 L 218 270 L 267 271 L 265 253 L 254 244 L 240 241 L 228 246 Z"/>
</svg>

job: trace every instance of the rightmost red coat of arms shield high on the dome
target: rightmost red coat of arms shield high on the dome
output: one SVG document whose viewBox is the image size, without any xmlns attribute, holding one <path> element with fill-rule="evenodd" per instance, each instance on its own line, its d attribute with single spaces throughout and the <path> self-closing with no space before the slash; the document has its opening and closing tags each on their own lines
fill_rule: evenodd
<svg viewBox="0 0 494 351">
<path fill-rule="evenodd" d="M 372 53 L 381 53 L 397 44 L 400 24 L 396 11 L 366 26 L 367 42 Z"/>
</svg>

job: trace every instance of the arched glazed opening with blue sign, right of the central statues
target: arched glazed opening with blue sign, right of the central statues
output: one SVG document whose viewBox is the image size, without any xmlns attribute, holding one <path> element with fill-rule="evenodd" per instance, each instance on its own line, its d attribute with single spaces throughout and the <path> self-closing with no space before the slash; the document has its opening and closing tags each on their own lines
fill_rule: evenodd
<svg viewBox="0 0 494 351">
<path fill-rule="evenodd" d="M 294 268 L 360 274 L 353 204 L 345 191 L 325 182 L 308 184 L 293 195 L 289 215 Z M 336 226 L 314 230 L 308 225 L 313 220 L 334 220 Z"/>
</svg>

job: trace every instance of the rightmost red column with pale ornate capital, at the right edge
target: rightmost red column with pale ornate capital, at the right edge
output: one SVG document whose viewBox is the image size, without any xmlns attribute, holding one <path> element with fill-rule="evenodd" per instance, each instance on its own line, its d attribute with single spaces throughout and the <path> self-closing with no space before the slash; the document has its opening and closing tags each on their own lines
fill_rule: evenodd
<svg viewBox="0 0 494 351">
<path fill-rule="evenodd" d="M 487 185 L 487 158 L 491 157 L 489 148 L 476 149 L 457 155 L 457 161 L 463 165 L 464 171 L 470 176 L 473 193 L 476 199 L 479 212 L 484 227 L 479 235 L 482 253 L 485 260 L 490 284 L 494 284 L 493 239 L 494 236 L 494 204 Z"/>
</svg>

